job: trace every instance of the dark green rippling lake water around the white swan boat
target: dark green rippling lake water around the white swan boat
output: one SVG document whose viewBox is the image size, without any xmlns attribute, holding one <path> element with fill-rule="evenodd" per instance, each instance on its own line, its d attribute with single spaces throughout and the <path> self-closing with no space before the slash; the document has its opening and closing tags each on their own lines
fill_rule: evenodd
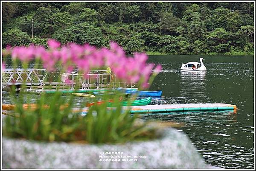
<svg viewBox="0 0 256 171">
<path fill-rule="evenodd" d="M 180 71 L 183 63 L 203 57 L 206 72 Z M 145 120 L 180 123 L 206 163 L 221 168 L 254 168 L 254 61 L 253 56 L 150 56 L 149 62 L 162 64 L 163 71 L 149 90 L 163 90 L 151 104 L 227 103 L 236 113 L 178 112 L 141 115 Z M 9 64 L 9 62 L 7 62 Z M 9 66 L 10 67 L 10 66 Z M 26 95 L 35 101 L 39 95 Z M 12 103 L 3 92 L 3 104 Z M 18 97 L 18 95 L 17 95 Z M 81 105 L 86 98 L 76 97 Z"/>
</svg>

